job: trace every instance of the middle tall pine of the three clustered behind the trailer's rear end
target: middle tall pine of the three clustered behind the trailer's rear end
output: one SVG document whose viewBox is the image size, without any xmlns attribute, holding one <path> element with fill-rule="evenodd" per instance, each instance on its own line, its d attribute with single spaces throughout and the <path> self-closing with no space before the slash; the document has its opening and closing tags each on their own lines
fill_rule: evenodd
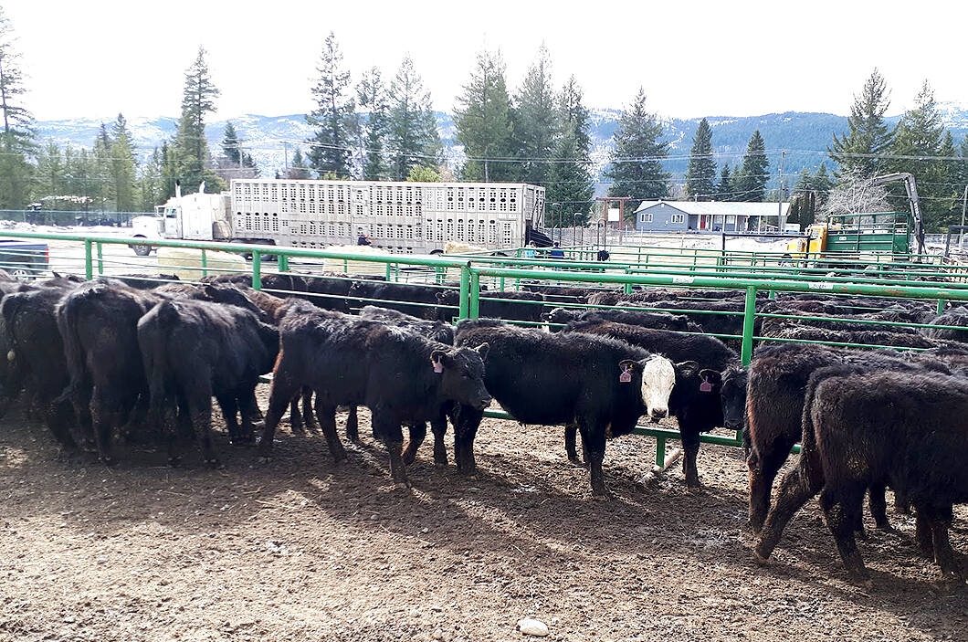
<svg viewBox="0 0 968 642">
<path fill-rule="evenodd" d="M 555 141 L 558 137 L 558 114 L 555 85 L 552 82 L 551 57 L 544 45 L 525 74 L 511 111 L 514 147 L 521 168 L 519 180 L 545 185 L 551 173 Z"/>
</svg>

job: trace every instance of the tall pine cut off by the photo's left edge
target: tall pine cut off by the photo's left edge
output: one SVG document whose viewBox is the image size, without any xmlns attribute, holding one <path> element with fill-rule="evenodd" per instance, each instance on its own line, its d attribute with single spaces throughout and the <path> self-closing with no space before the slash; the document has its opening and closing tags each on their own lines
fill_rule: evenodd
<svg viewBox="0 0 968 642">
<path fill-rule="evenodd" d="M 26 204 L 33 174 L 27 159 L 35 148 L 34 119 L 20 103 L 26 87 L 14 45 L 13 25 L 0 7 L 0 208 Z"/>
</svg>

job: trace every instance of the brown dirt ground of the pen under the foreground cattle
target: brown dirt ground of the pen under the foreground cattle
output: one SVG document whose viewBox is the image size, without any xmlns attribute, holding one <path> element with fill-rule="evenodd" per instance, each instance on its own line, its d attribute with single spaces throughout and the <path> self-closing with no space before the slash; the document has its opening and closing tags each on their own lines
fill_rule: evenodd
<svg viewBox="0 0 968 642">
<path fill-rule="evenodd" d="M 515 640 L 528 616 L 554 640 L 966 639 L 968 596 L 934 585 L 908 518 L 862 542 L 871 589 L 846 582 L 815 503 L 756 566 L 735 448 L 704 444 L 705 489 L 688 492 L 679 470 L 640 487 L 654 443 L 615 440 L 615 499 L 598 502 L 559 428 L 486 420 L 475 478 L 435 468 L 425 443 L 408 491 L 360 418 L 338 466 L 284 423 L 268 463 L 221 435 L 223 470 L 143 448 L 108 470 L 63 457 L 14 409 L 0 640 Z"/>
</svg>

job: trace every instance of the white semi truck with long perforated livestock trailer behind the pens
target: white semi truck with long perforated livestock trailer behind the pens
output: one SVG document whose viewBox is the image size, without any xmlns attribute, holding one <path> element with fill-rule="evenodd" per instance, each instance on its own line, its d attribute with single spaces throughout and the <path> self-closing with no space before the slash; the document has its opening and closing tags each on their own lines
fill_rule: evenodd
<svg viewBox="0 0 968 642">
<path fill-rule="evenodd" d="M 325 248 L 363 235 L 394 254 L 438 254 L 447 241 L 498 250 L 550 245 L 544 198 L 527 183 L 244 178 L 222 194 L 176 194 L 133 227 L 140 238 Z"/>
</svg>

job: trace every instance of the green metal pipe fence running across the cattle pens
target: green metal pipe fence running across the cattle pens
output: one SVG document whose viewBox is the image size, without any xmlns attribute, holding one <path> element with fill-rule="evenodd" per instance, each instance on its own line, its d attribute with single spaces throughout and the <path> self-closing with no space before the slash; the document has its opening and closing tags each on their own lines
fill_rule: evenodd
<svg viewBox="0 0 968 642">
<path fill-rule="evenodd" d="M 390 281 L 419 282 L 446 288 L 445 282 L 456 277 L 453 290 L 459 292 L 459 305 L 456 318 L 469 319 L 478 316 L 482 286 L 485 284 L 499 288 L 499 290 L 518 290 L 526 284 L 544 285 L 574 285 L 583 287 L 597 287 L 630 292 L 632 289 L 663 288 L 679 290 L 737 290 L 741 292 L 743 306 L 740 312 L 706 311 L 705 314 L 732 314 L 742 318 L 741 333 L 738 335 L 719 335 L 739 342 L 741 361 L 748 364 L 756 341 L 764 340 L 754 334 L 756 321 L 759 318 L 799 318 L 804 320 L 842 321 L 835 317 L 814 315 L 811 317 L 792 317 L 789 315 L 766 314 L 758 312 L 756 302 L 758 294 L 767 292 L 770 297 L 777 292 L 819 292 L 832 296 L 862 296 L 885 297 L 889 299 L 913 299 L 930 301 L 937 305 L 940 312 L 948 302 L 958 303 L 968 301 L 968 285 L 952 283 L 951 276 L 959 274 L 952 266 L 935 264 L 928 271 L 923 263 L 905 266 L 892 263 L 884 270 L 867 271 L 865 268 L 876 262 L 856 261 L 857 273 L 851 276 L 831 276 L 823 272 L 823 267 L 810 266 L 808 263 L 788 266 L 783 271 L 783 265 L 754 265 L 753 263 L 727 264 L 721 261 L 724 257 L 719 254 L 719 262 L 700 263 L 683 266 L 681 263 L 649 262 L 642 255 L 636 261 L 597 261 L 580 260 L 584 255 L 576 255 L 575 260 L 548 260 L 519 258 L 516 252 L 513 256 L 409 256 L 409 255 L 371 255 L 345 254 L 325 250 L 309 250 L 288 247 L 267 247 L 264 245 L 245 245 L 237 243 L 206 243 L 179 240 L 147 240 L 126 238 L 120 236 L 91 236 L 80 234 L 38 234 L 32 232 L 2 232 L 8 238 L 44 240 L 50 244 L 50 268 L 58 267 L 64 272 L 83 274 L 92 279 L 98 275 L 121 274 L 123 272 L 151 272 L 157 270 L 157 264 L 150 259 L 136 258 L 129 247 L 136 245 L 150 245 L 152 247 L 188 248 L 198 250 L 200 264 L 198 268 L 202 275 L 232 271 L 217 268 L 207 263 L 207 257 L 212 252 L 228 252 L 238 255 L 250 255 L 251 261 L 243 271 L 251 273 L 253 287 L 262 289 L 262 276 L 267 271 L 282 273 L 297 273 L 296 268 L 309 270 L 300 273 L 312 278 L 319 275 L 319 260 L 345 261 L 345 265 L 352 263 L 368 263 L 379 267 L 378 271 Z M 267 260 L 274 257 L 276 261 Z M 699 254 L 693 254 L 698 257 Z M 727 259 L 734 257 L 728 255 Z M 740 255 L 742 259 L 742 255 Z M 153 267 L 154 265 L 154 267 Z M 905 267 L 917 270 L 918 276 L 926 280 L 912 280 L 903 278 L 908 272 Z M 952 269 L 948 269 L 952 267 Z M 963 270 L 963 268 L 961 268 Z M 316 270 L 316 272 L 314 272 Z M 352 275 L 338 278 L 353 278 Z M 269 290 L 274 291 L 274 290 Z M 501 299 L 498 299 L 501 300 Z M 508 299 L 510 300 L 510 299 Z M 379 302 L 376 299 L 367 301 Z M 522 301 L 515 301 L 522 302 Z M 413 304 L 411 302 L 407 302 Z M 546 303 L 537 301 L 531 305 L 558 307 L 607 307 L 590 304 Z M 413 304 L 419 305 L 419 304 Z M 425 304 L 432 305 L 432 304 Z M 656 308 L 623 308 L 656 311 Z M 676 308 L 663 308 L 670 312 L 682 312 Z M 704 314 L 703 311 L 689 310 L 690 314 Z M 852 320 L 858 321 L 858 320 Z M 858 321 L 876 325 L 878 323 L 891 324 L 889 321 Z M 922 323 L 903 323 L 905 326 L 919 327 Z M 963 328 L 957 328 L 963 329 Z M 769 340 L 769 338 L 766 338 Z M 805 341 L 805 343 L 822 343 Z M 843 344 L 852 347 L 864 347 L 856 344 Z M 506 413 L 489 411 L 487 416 L 512 418 Z M 675 430 L 639 426 L 634 432 L 653 437 L 656 440 L 656 466 L 664 467 L 668 464 L 666 457 L 666 443 L 668 440 L 679 439 Z M 703 435 L 705 443 L 717 443 L 740 446 L 741 435 Z"/>
</svg>

